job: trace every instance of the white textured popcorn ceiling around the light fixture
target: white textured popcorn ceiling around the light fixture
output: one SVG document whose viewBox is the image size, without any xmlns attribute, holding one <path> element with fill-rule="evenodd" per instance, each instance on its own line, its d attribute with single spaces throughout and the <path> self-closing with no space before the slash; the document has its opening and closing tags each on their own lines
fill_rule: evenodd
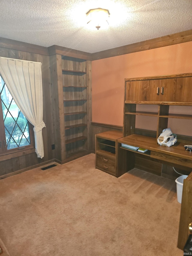
<svg viewBox="0 0 192 256">
<path fill-rule="evenodd" d="M 89 9 L 110 11 L 90 29 Z M 1 0 L 0 36 L 95 53 L 192 29 L 192 0 Z"/>
</svg>

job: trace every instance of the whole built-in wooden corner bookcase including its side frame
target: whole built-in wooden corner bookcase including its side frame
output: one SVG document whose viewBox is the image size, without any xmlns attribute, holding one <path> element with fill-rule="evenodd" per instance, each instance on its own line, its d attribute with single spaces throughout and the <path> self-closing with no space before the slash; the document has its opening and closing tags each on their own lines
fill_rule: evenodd
<svg viewBox="0 0 192 256">
<path fill-rule="evenodd" d="M 55 54 L 50 56 L 55 152 L 61 163 L 88 153 L 91 62 Z"/>
</svg>

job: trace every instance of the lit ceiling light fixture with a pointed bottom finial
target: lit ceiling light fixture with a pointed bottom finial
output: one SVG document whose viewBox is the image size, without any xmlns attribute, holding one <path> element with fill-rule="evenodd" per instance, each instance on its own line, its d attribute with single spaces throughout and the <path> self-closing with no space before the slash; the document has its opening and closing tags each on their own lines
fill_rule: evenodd
<svg viewBox="0 0 192 256">
<path fill-rule="evenodd" d="M 107 9 L 97 8 L 91 9 L 87 13 L 87 24 L 92 24 L 96 29 L 100 29 L 101 26 L 109 25 L 108 19 L 110 13 Z"/>
</svg>

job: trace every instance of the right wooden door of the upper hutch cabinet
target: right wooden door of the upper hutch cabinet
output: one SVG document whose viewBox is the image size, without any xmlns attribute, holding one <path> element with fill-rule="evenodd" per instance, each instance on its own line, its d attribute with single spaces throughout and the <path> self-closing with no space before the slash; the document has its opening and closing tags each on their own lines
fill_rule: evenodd
<svg viewBox="0 0 192 256">
<path fill-rule="evenodd" d="M 192 77 L 161 80 L 160 101 L 192 102 Z"/>
</svg>

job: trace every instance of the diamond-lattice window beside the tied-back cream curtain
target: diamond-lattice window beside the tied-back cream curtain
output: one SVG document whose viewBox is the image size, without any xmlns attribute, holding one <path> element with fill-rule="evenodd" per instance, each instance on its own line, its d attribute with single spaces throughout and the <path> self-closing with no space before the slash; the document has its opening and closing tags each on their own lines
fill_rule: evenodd
<svg viewBox="0 0 192 256">
<path fill-rule="evenodd" d="M 0 94 L 0 153 L 32 148 L 32 125 L 17 107 L 1 76 Z"/>
</svg>

